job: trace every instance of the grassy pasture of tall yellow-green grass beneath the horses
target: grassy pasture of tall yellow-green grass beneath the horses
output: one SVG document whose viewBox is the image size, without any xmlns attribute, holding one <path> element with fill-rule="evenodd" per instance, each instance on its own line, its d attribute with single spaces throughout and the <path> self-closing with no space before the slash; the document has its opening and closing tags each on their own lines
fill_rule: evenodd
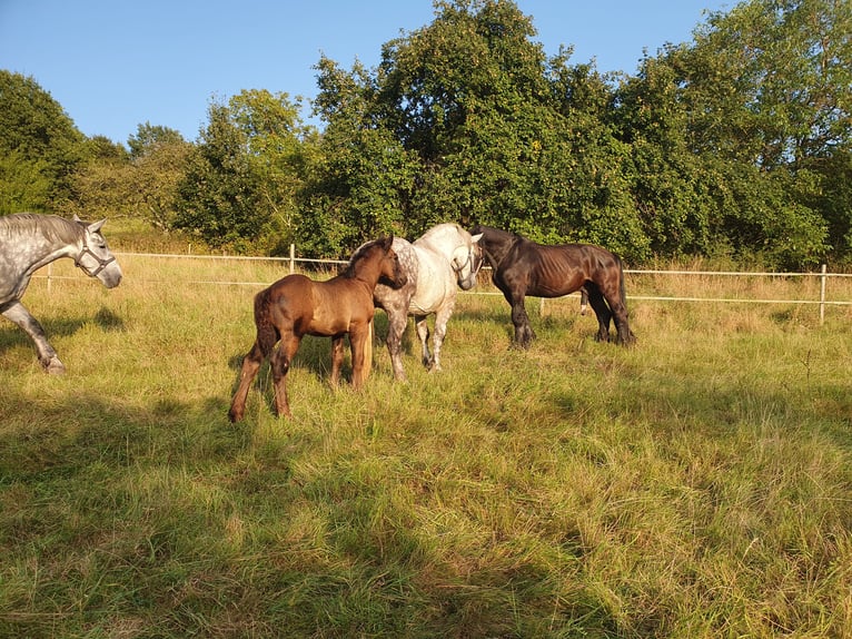
<svg viewBox="0 0 852 639">
<path fill-rule="evenodd" d="M 630 302 L 732 283 L 628 277 L 635 347 L 573 296 L 528 301 L 518 351 L 502 297 L 462 295 L 442 373 L 409 321 L 407 384 L 377 344 L 331 391 L 306 337 L 294 419 L 265 366 L 232 425 L 261 286 L 200 282 L 284 268 L 119 259 L 118 288 L 24 297 L 65 376 L 0 323 L 0 636 L 852 636 L 850 307 Z"/>
</svg>

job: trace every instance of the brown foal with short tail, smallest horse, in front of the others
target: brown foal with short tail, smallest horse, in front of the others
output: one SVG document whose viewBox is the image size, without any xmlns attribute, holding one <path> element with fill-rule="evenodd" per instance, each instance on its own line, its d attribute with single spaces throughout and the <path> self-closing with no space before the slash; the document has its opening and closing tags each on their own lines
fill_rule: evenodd
<svg viewBox="0 0 852 639">
<path fill-rule="evenodd" d="M 314 282 L 288 275 L 255 296 L 257 338 L 242 360 L 239 387 L 228 412 L 231 422 L 242 419 L 246 397 L 260 364 L 271 356 L 275 411 L 291 416 L 285 383 L 293 357 L 305 335 L 331 337 L 331 385 L 337 385 L 344 360 L 344 336 L 349 335 L 353 386 L 359 389 L 373 365 L 373 291 L 379 277 L 403 286 L 406 277 L 390 247 L 393 236 L 369 242 L 355 252 L 346 272 Z M 278 350 L 273 351 L 280 341 Z"/>
</svg>

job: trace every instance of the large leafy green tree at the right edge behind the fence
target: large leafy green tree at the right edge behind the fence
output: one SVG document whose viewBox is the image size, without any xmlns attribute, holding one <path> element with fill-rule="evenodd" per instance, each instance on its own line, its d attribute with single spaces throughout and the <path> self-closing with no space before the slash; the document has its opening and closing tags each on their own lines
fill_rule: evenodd
<svg viewBox="0 0 852 639">
<path fill-rule="evenodd" d="M 614 117 L 655 250 L 801 267 L 842 242 L 851 30 L 845 2 L 750 0 L 643 60 Z"/>
</svg>

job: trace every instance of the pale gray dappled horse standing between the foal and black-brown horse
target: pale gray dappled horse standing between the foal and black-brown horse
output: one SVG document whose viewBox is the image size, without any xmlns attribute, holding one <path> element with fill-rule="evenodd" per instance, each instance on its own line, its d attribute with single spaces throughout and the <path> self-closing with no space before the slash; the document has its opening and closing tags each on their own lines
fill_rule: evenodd
<svg viewBox="0 0 852 639">
<path fill-rule="evenodd" d="M 394 238 L 394 250 L 408 282 L 399 288 L 392 288 L 379 281 L 373 298 L 376 306 L 387 313 L 387 348 L 396 380 L 406 379 L 402 344 L 409 315 L 414 316 L 423 346 L 423 364 L 429 370 L 440 370 L 440 347 L 456 305 L 456 287 L 464 291 L 473 288 L 483 264 L 478 240 L 479 236 L 472 236 L 453 223 L 433 226 L 414 243 Z M 426 321 L 433 313 L 435 336 L 433 352 L 429 353 Z"/>
</svg>

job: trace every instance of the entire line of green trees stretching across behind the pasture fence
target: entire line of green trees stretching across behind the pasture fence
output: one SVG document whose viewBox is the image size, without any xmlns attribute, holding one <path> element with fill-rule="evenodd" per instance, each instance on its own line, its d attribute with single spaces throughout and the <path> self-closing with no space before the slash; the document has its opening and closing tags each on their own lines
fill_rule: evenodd
<svg viewBox="0 0 852 639">
<path fill-rule="evenodd" d="M 746 0 L 635 75 L 545 53 L 511 0 L 436 0 L 376 68 L 320 57 L 318 95 L 211 100 L 194 141 L 87 138 L 0 71 L 0 214 L 143 218 L 216 248 L 345 256 L 484 223 L 628 263 L 852 262 L 852 3 Z"/>
</svg>

